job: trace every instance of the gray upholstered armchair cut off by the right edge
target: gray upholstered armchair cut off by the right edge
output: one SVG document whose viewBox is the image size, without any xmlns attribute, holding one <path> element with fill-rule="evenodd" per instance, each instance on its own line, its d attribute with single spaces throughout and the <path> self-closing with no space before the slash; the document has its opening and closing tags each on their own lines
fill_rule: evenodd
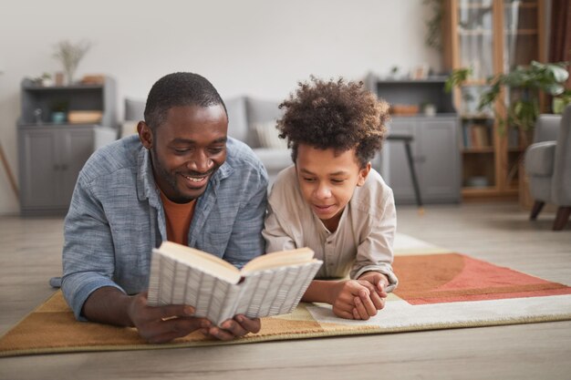
<svg viewBox="0 0 571 380">
<path fill-rule="evenodd" d="M 529 190 L 535 200 L 530 220 L 535 221 L 545 203 L 557 206 L 554 231 L 565 228 L 571 215 L 571 106 L 559 115 L 540 115 L 534 143 L 524 156 Z"/>
</svg>

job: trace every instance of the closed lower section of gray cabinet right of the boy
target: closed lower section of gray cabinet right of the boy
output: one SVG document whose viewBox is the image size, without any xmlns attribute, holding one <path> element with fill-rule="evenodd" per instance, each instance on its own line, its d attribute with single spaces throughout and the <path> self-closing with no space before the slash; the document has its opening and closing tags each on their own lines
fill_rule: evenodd
<svg viewBox="0 0 571 380">
<path fill-rule="evenodd" d="M 424 203 L 459 202 L 460 151 L 458 118 L 393 117 L 389 133 L 410 135 L 412 159 Z M 381 151 L 381 174 L 394 191 L 397 203 L 414 203 L 409 163 L 401 141 L 386 141 Z"/>
</svg>

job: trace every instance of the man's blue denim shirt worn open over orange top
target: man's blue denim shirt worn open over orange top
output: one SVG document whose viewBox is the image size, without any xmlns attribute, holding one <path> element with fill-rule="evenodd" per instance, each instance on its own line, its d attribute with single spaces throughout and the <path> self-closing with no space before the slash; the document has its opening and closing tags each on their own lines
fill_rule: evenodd
<svg viewBox="0 0 571 380">
<path fill-rule="evenodd" d="M 264 252 L 267 173 L 252 149 L 228 138 L 223 165 L 197 200 L 189 246 L 236 267 Z M 65 222 L 62 290 L 78 319 L 103 286 L 147 289 L 151 249 L 167 240 L 151 155 L 138 136 L 96 151 L 78 176 Z"/>
</svg>

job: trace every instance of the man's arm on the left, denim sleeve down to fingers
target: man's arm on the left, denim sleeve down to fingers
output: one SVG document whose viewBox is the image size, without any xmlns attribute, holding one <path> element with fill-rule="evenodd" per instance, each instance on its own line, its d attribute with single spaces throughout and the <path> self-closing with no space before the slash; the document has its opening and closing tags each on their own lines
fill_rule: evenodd
<svg viewBox="0 0 571 380">
<path fill-rule="evenodd" d="M 192 309 L 183 305 L 149 307 L 145 293 L 129 296 L 111 280 L 115 257 L 109 221 L 97 197 L 81 180 L 67 214 L 65 235 L 62 290 L 78 319 L 136 326 L 152 343 L 210 327 L 202 318 L 189 317 Z"/>
</svg>

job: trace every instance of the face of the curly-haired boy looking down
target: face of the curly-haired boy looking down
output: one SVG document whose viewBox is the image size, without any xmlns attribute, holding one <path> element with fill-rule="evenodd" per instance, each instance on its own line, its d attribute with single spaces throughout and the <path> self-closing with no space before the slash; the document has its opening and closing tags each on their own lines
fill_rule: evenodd
<svg viewBox="0 0 571 380">
<path fill-rule="evenodd" d="M 300 144 L 297 148 L 296 171 L 299 187 L 306 203 L 327 228 L 334 225 L 369 174 L 367 167 L 359 168 L 355 149 L 336 152 Z M 333 224 L 331 224 L 333 223 Z"/>
</svg>

